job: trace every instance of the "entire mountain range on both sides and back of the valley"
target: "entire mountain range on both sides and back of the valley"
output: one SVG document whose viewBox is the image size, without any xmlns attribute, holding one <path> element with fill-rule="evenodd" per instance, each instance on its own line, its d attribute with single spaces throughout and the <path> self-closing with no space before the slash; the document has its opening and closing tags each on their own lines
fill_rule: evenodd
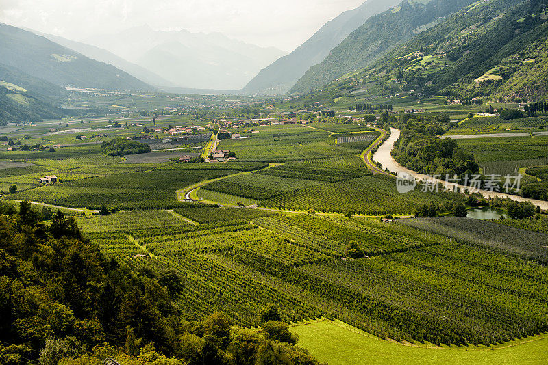
<svg viewBox="0 0 548 365">
<path fill-rule="evenodd" d="M 219 33 L 137 27 L 91 45 L 0 23 L 0 122 L 74 113 L 66 87 L 237 94 L 269 63 L 242 93 L 548 100 L 548 0 L 395 3 L 369 0 L 287 56 Z"/>
</svg>

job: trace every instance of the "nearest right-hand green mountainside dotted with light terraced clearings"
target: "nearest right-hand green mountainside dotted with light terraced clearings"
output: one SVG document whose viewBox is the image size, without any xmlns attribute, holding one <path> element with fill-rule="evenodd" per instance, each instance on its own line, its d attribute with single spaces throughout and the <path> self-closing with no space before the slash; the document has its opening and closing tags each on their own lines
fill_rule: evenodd
<svg viewBox="0 0 548 365">
<path fill-rule="evenodd" d="M 545 0 L 480 1 L 328 88 L 546 100 L 547 6 Z"/>
</svg>

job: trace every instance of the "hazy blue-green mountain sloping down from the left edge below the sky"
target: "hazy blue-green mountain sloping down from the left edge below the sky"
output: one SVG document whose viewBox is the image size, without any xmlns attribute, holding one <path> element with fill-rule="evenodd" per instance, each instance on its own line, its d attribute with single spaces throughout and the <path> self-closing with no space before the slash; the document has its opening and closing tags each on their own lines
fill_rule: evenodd
<svg viewBox="0 0 548 365">
<path fill-rule="evenodd" d="M 0 64 L 61 87 L 154 89 L 110 64 L 97 62 L 47 38 L 3 23 L 0 23 Z"/>
</svg>

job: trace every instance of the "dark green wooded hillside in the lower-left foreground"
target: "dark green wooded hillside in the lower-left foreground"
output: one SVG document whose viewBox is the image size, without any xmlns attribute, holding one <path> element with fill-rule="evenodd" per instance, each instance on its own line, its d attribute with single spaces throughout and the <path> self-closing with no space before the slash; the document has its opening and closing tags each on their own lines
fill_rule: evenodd
<svg viewBox="0 0 548 365">
<path fill-rule="evenodd" d="M 264 335 L 221 312 L 186 321 L 186 278 L 135 263 L 105 258 L 60 211 L 0 204 L 0 364 L 319 364 L 275 311 Z"/>
</svg>

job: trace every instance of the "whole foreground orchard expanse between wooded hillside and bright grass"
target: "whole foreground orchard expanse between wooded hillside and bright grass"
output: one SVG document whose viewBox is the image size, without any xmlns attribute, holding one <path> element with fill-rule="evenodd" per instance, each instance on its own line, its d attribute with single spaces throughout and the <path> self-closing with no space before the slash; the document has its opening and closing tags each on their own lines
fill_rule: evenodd
<svg viewBox="0 0 548 365">
<path fill-rule="evenodd" d="M 288 321 L 336 317 L 411 342 L 488 345 L 548 329 L 548 271 L 541 265 L 399 224 L 236 211 L 242 219 L 227 221 L 222 208 L 177 209 L 212 217 L 199 225 L 165 211 L 78 221 L 107 256 L 182 273 L 179 303 L 190 318 L 222 306 L 253 327 L 254 306 L 275 300 Z M 347 259 L 350 240 L 378 257 Z"/>
</svg>

